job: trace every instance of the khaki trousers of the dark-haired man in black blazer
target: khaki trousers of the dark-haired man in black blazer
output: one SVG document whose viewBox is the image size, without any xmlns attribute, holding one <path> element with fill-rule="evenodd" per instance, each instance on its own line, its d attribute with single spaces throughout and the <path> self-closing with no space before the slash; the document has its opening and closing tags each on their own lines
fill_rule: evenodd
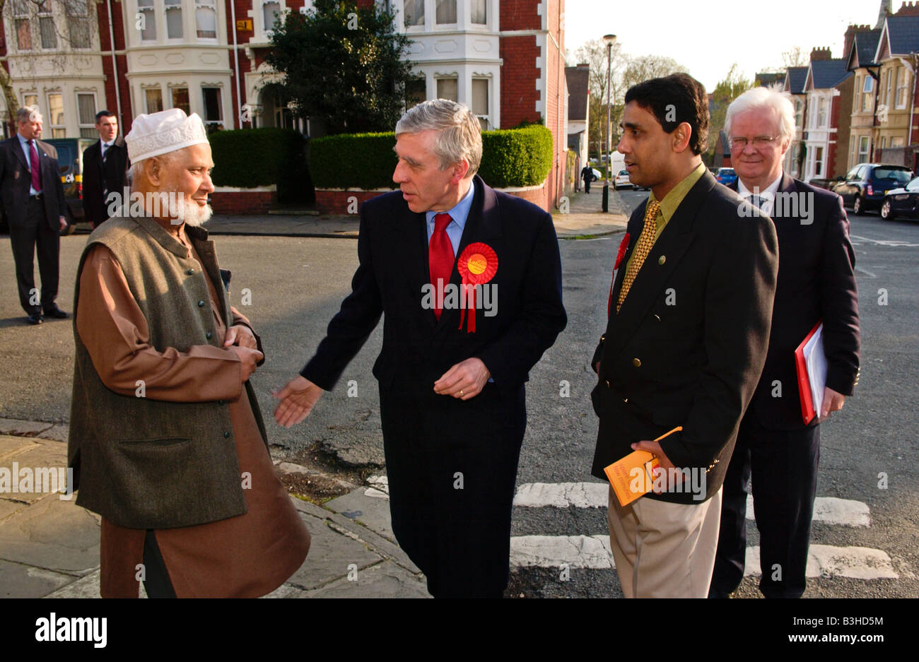
<svg viewBox="0 0 919 662">
<path fill-rule="evenodd" d="M 720 514 L 720 489 L 698 504 L 642 497 L 622 507 L 609 488 L 609 544 L 626 598 L 707 598 Z"/>
</svg>

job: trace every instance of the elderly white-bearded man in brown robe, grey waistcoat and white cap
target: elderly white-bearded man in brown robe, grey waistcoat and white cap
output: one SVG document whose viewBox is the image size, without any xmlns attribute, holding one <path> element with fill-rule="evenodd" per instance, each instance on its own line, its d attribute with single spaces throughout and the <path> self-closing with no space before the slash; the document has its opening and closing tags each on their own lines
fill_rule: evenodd
<svg viewBox="0 0 919 662">
<path fill-rule="evenodd" d="M 207 134 L 172 108 L 139 115 L 125 141 L 136 203 L 89 236 L 74 295 L 68 455 L 76 503 L 102 516 L 100 592 L 138 597 L 142 581 L 151 597 L 265 595 L 301 566 L 310 534 L 249 383 L 261 342 L 199 227 Z"/>
</svg>

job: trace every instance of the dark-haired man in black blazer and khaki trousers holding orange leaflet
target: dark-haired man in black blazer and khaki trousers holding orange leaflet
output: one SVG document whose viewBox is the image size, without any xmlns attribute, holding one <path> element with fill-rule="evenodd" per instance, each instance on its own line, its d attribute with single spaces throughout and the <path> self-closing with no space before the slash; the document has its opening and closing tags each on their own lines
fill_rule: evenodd
<svg viewBox="0 0 919 662">
<path fill-rule="evenodd" d="M 633 450 L 664 470 L 608 523 L 626 597 L 709 592 L 721 482 L 759 380 L 776 288 L 776 230 L 718 184 L 705 88 L 685 73 L 630 88 L 618 151 L 651 188 L 631 216 L 592 360 L 600 417 L 592 474 Z M 674 431 L 661 441 L 659 437 Z M 643 492 L 633 481 L 630 488 Z"/>
</svg>

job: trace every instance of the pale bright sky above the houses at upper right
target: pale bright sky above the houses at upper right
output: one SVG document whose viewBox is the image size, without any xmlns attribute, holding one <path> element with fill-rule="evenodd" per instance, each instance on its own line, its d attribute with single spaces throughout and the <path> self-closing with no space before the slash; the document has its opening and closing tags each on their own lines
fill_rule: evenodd
<svg viewBox="0 0 919 662">
<path fill-rule="evenodd" d="M 893 0 L 891 8 L 902 5 Z M 829 46 L 843 57 L 845 28 L 874 28 L 879 7 L 880 0 L 565 0 L 564 45 L 574 54 L 614 34 L 622 52 L 671 57 L 711 92 L 732 62 L 753 78 L 780 67 L 794 46 L 807 54 Z"/>
</svg>

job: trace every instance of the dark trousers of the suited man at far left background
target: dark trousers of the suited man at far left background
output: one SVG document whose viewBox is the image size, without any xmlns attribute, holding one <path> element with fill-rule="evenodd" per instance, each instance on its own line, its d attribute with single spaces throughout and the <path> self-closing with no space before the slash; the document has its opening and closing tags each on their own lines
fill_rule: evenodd
<svg viewBox="0 0 919 662">
<path fill-rule="evenodd" d="M 40 313 L 41 309 L 54 307 L 57 298 L 58 275 L 61 258 L 61 234 L 48 225 L 45 218 L 44 199 L 29 198 L 24 225 L 9 224 L 9 242 L 13 247 L 13 261 L 16 264 L 16 282 L 19 289 L 19 304 L 28 314 Z M 35 249 L 39 252 L 39 274 L 41 296 L 35 296 Z"/>
</svg>

